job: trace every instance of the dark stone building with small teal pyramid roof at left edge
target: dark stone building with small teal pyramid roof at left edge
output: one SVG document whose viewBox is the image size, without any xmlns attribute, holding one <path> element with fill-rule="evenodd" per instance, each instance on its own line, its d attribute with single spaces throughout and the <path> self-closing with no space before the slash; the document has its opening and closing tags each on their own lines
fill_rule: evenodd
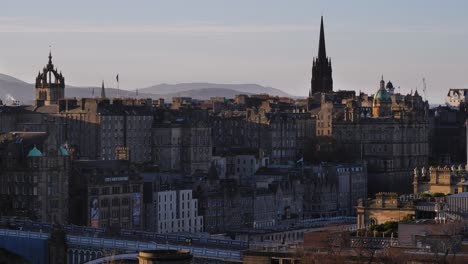
<svg viewBox="0 0 468 264">
<path fill-rule="evenodd" d="M 53 130 L 0 136 L 2 215 L 68 222 L 70 155 Z"/>
</svg>

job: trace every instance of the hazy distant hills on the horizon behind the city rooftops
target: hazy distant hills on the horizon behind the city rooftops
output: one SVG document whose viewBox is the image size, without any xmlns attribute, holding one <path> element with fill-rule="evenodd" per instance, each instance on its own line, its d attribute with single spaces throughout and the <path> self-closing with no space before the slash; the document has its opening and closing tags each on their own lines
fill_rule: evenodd
<svg viewBox="0 0 468 264">
<path fill-rule="evenodd" d="M 67 85 L 65 96 L 72 98 L 100 96 L 101 87 L 75 87 Z M 198 100 L 209 99 L 210 97 L 234 98 L 238 94 L 261 94 L 267 93 L 276 96 L 292 97 L 291 95 L 272 87 L 264 87 L 258 84 L 213 84 L 213 83 L 181 83 L 181 84 L 158 84 L 147 88 L 138 89 L 140 98 L 164 98 L 170 101 L 172 97 L 184 96 Z M 106 88 L 106 96 L 114 97 L 135 97 L 136 90 L 117 90 Z M 0 100 L 4 103 L 11 103 L 13 100 L 22 104 L 34 102 L 34 85 L 16 79 L 9 75 L 0 73 Z"/>
</svg>

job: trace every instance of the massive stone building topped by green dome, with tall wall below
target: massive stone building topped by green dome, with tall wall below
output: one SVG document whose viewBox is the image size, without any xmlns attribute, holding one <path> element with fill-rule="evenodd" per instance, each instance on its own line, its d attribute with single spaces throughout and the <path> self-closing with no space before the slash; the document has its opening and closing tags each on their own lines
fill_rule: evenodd
<svg viewBox="0 0 468 264">
<path fill-rule="evenodd" d="M 427 166 L 428 103 L 413 95 L 391 94 L 380 82 L 374 96 L 360 94 L 333 106 L 332 136 L 368 166 L 369 193 L 412 193 L 412 171 Z M 344 106 L 344 107 L 343 107 Z"/>
</svg>

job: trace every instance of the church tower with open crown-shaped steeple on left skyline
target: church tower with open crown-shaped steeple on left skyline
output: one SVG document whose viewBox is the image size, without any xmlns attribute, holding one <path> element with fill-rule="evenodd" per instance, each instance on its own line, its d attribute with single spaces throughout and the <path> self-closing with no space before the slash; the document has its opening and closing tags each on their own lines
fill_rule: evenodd
<svg viewBox="0 0 468 264">
<path fill-rule="evenodd" d="M 65 78 L 54 68 L 52 52 L 49 62 L 36 77 L 36 105 L 57 105 L 65 96 Z"/>
</svg>

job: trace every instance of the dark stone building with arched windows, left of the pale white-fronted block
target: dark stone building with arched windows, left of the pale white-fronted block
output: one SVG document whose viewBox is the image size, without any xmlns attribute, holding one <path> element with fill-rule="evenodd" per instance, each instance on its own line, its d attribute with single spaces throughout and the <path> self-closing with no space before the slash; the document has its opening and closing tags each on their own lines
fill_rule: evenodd
<svg viewBox="0 0 468 264">
<path fill-rule="evenodd" d="M 125 160 L 73 162 L 70 222 L 93 227 L 141 229 L 143 179 Z"/>
</svg>

